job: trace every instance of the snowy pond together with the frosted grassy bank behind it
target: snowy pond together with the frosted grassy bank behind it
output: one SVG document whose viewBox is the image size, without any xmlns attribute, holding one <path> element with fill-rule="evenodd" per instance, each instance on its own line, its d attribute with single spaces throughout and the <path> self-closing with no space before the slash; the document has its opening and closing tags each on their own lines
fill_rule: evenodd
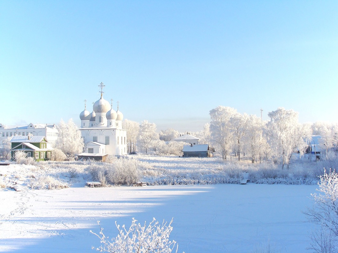
<svg viewBox="0 0 338 253">
<path fill-rule="evenodd" d="M 115 221 L 129 227 L 132 217 L 140 223 L 173 218 L 170 239 L 177 241 L 178 252 L 307 252 L 309 232 L 316 227 L 302 212 L 312 205 L 321 164 L 299 159 L 281 171 L 273 164 L 217 158 L 131 159 L 152 186 L 83 187 L 93 180 L 93 169 L 111 166 L 104 163 L 1 166 L 0 182 L 6 188 L 0 189 L 0 252 L 92 252 L 100 246 L 89 232 L 99 232 L 97 221 L 106 236 L 115 237 Z M 271 185 L 239 185 L 241 175 Z M 44 190 L 44 177 L 70 188 Z M 223 179 L 235 184 L 211 185 Z M 37 180 L 35 189 L 42 190 L 29 188 Z M 169 185 L 160 185 L 163 180 Z M 292 182 L 298 185 L 285 185 Z M 15 183 L 23 191 L 8 188 Z"/>
</svg>

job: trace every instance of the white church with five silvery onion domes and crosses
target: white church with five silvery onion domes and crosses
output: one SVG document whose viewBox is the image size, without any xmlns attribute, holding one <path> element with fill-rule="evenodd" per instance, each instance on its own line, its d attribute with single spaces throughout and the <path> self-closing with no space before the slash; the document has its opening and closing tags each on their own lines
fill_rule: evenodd
<svg viewBox="0 0 338 253">
<path fill-rule="evenodd" d="M 110 104 L 103 99 L 104 86 L 100 83 L 101 98 L 94 103 L 93 112 L 86 110 L 85 103 L 84 111 L 80 113 L 84 152 L 87 155 L 88 153 L 123 155 L 127 151 L 127 131 L 122 129 L 123 114 L 119 111 L 119 105 L 115 111 L 113 103 Z"/>
</svg>

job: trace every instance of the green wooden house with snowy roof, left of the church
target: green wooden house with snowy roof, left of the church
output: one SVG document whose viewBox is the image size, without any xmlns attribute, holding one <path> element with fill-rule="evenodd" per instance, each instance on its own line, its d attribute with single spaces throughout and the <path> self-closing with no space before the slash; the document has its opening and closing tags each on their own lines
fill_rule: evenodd
<svg viewBox="0 0 338 253">
<path fill-rule="evenodd" d="M 10 142 L 12 159 L 19 150 L 23 150 L 27 157 L 33 157 L 36 161 L 47 161 L 52 154 L 52 149 L 47 148 L 48 141 L 45 136 L 13 136 Z"/>
</svg>

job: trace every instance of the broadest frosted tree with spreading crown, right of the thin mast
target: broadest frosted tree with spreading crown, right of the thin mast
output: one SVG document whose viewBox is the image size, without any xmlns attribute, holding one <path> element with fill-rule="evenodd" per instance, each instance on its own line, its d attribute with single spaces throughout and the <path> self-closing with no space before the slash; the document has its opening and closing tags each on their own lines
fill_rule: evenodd
<svg viewBox="0 0 338 253">
<path fill-rule="evenodd" d="M 307 147 L 311 130 L 308 125 L 298 123 L 298 113 L 282 107 L 268 113 L 270 121 L 267 123 L 267 137 L 274 156 L 289 167 L 293 152 L 303 152 Z"/>
</svg>

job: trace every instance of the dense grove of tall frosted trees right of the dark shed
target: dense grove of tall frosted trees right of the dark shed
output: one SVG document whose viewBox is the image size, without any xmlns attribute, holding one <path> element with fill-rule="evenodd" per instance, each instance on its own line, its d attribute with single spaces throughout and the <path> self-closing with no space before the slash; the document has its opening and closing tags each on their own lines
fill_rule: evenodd
<svg viewBox="0 0 338 253">
<path fill-rule="evenodd" d="M 303 153 L 313 135 L 320 135 L 320 145 L 337 148 L 337 124 L 298 122 L 298 113 L 278 108 L 269 112 L 269 121 L 256 115 L 241 114 L 231 107 L 218 106 L 210 111 L 210 140 L 226 160 L 235 154 L 248 154 L 255 163 L 264 158 L 289 165 L 294 152 Z M 325 152 L 327 153 L 327 152 Z"/>
</svg>

